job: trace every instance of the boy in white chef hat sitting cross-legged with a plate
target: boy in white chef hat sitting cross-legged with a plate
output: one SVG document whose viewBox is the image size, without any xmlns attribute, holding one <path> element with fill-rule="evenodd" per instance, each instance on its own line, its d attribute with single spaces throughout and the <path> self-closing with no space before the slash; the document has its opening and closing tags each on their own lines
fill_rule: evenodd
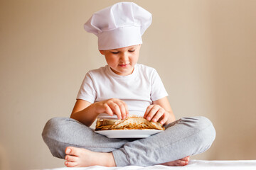
<svg viewBox="0 0 256 170">
<path fill-rule="evenodd" d="M 93 14 L 85 30 L 98 37 L 107 66 L 85 75 L 70 118 L 46 123 L 43 140 L 65 166 L 183 166 L 189 156 L 205 152 L 215 139 L 210 120 L 175 120 L 156 70 L 137 64 L 142 35 L 151 13 L 121 2 Z M 110 139 L 88 128 L 96 118 L 143 116 L 166 130 L 137 140 Z"/>
</svg>

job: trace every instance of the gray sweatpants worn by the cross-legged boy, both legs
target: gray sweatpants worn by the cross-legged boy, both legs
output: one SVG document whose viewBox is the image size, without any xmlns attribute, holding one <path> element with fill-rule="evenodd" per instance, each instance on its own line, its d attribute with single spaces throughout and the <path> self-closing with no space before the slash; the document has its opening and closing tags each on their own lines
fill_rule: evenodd
<svg viewBox="0 0 256 170">
<path fill-rule="evenodd" d="M 144 139 L 110 139 L 72 118 L 52 118 L 43 140 L 54 157 L 64 158 L 68 146 L 94 152 L 112 152 L 117 166 L 151 166 L 205 152 L 215 139 L 213 124 L 205 117 L 181 118 L 166 130 Z"/>
</svg>

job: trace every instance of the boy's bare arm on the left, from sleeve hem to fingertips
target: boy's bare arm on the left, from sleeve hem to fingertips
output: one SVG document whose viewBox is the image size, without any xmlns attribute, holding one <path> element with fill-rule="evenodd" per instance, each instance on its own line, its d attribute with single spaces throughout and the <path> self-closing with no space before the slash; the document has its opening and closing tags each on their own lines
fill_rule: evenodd
<svg viewBox="0 0 256 170">
<path fill-rule="evenodd" d="M 124 101 L 121 101 L 118 98 L 110 98 L 95 103 L 78 99 L 70 118 L 78 120 L 80 123 L 89 127 L 100 113 L 107 113 L 109 115 L 115 114 L 118 119 L 124 119 L 128 116 L 128 107 Z"/>
</svg>

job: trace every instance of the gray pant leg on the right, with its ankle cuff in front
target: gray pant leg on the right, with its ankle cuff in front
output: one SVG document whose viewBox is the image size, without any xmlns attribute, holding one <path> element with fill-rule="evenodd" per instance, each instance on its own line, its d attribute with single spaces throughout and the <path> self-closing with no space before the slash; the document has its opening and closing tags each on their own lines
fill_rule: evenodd
<svg viewBox="0 0 256 170">
<path fill-rule="evenodd" d="M 112 153 L 117 166 L 151 166 L 205 152 L 214 139 L 215 129 L 207 118 L 181 118 L 164 132 L 127 142 Z"/>
</svg>

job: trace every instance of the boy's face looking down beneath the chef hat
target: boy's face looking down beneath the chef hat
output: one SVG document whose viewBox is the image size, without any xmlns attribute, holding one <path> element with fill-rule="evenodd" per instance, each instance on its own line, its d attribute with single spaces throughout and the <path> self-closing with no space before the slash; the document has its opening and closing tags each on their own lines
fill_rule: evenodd
<svg viewBox="0 0 256 170">
<path fill-rule="evenodd" d="M 113 50 L 100 50 L 105 55 L 107 64 L 115 74 L 127 76 L 132 74 L 134 65 L 139 60 L 139 50 L 141 45 L 132 45 Z"/>
</svg>

